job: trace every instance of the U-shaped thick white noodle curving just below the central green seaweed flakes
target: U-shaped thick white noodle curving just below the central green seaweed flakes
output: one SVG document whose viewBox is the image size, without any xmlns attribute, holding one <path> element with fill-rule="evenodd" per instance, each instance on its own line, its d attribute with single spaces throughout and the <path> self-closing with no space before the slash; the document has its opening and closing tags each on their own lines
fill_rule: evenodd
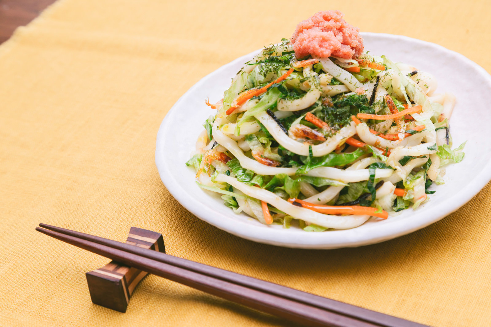
<svg viewBox="0 0 491 327">
<path fill-rule="evenodd" d="M 261 122 L 261 124 L 266 127 L 268 132 L 274 137 L 274 139 L 285 149 L 296 153 L 300 156 L 308 156 L 308 143 L 300 143 L 294 140 L 290 136 L 286 135 L 285 132 L 278 126 L 273 118 L 267 112 L 261 112 L 255 115 L 255 117 Z M 312 145 L 312 154 L 315 157 L 320 157 L 331 153 L 336 149 L 336 147 L 346 138 L 354 136 L 356 133 L 355 123 L 347 125 L 340 129 L 335 135 L 328 137 L 326 141 L 321 144 Z"/>
</svg>

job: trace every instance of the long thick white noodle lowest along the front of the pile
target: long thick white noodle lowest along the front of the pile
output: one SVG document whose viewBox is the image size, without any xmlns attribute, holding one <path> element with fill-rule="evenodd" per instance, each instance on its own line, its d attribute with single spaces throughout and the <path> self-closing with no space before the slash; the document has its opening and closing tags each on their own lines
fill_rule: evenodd
<svg viewBox="0 0 491 327">
<path fill-rule="evenodd" d="M 295 206 L 288 201 L 283 200 L 273 192 L 256 188 L 253 186 L 248 186 L 237 179 L 227 176 L 224 174 L 218 174 L 215 177 L 218 182 L 225 182 L 232 185 L 234 188 L 242 191 L 247 196 L 254 197 L 261 201 L 265 201 L 271 204 L 273 207 L 278 208 L 287 215 L 295 217 L 297 219 L 302 219 L 307 222 L 335 229 L 348 229 L 361 225 L 370 218 L 368 215 L 351 215 L 351 216 L 335 216 L 335 215 L 325 215 L 315 212 L 310 209 L 305 209 L 302 207 Z"/>
</svg>

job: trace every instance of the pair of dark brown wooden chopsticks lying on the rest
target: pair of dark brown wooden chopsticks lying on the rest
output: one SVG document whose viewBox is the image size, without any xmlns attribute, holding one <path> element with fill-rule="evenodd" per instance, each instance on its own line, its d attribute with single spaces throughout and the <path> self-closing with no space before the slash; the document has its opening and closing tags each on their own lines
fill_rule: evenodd
<svg viewBox="0 0 491 327">
<path fill-rule="evenodd" d="M 425 326 L 135 245 L 42 223 L 39 226 L 42 228 L 36 227 L 37 231 L 60 241 L 304 326 Z"/>
</svg>

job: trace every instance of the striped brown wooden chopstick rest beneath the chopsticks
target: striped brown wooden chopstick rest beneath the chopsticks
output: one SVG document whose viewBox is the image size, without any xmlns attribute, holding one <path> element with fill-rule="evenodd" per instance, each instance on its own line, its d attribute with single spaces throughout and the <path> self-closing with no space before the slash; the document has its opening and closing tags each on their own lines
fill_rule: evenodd
<svg viewBox="0 0 491 327">
<path fill-rule="evenodd" d="M 150 230 L 131 227 L 126 243 L 165 253 L 162 234 Z M 146 275 L 116 261 L 85 273 L 92 302 L 119 312 L 126 312 L 131 294 Z"/>
</svg>

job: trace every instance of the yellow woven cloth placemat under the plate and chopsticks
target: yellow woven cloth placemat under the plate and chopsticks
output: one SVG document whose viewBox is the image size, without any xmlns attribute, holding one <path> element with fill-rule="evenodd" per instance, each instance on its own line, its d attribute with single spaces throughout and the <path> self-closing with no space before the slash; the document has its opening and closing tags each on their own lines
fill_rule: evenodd
<svg viewBox="0 0 491 327">
<path fill-rule="evenodd" d="M 155 138 L 175 101 L 326 9 L 491 71 L 485 0 L 60 0 L 1 45 L 0 326 L 291 326 L 156 276 L 125 314 L 94 305 L 84 273 L 108 260 L 34 231 L 39 222 L 121 241 L 137 226 L 162 233 L 176 256 L 423 324 L 490 326 L 490 185 L 408 236 L 300 250 L 218 230 L 160 181 Z"/>
</svg>

